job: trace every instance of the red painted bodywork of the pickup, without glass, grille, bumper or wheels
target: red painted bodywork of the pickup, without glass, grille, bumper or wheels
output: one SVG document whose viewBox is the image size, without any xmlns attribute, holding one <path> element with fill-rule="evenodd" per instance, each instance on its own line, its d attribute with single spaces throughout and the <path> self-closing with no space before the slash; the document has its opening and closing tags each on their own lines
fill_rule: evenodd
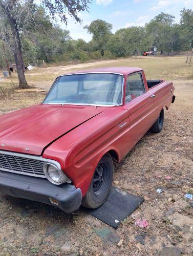
<svg viewBox="0 0 193 256">
<path fill-rule="evenodd" d="M 120 161 L 154 124 L 162 108 L 169 108 L 174 96 L 173 83 L 164 80 L 149 90 L 140 68 L 100 68 L 78 73 L 84 72 L 123 74 L 124 95 L 126 77 L 142 72 L 146 93 L 128 103 L 123 101 L 122 106 L 39 104 L 0 117 L 1 150 L 58 161 L 63 172 L 81 189 L 82 196 L 87 193 L 101 157 L 114 151 Z M 121 129 L 119 124 L 124 124 Z"/>
</svg>

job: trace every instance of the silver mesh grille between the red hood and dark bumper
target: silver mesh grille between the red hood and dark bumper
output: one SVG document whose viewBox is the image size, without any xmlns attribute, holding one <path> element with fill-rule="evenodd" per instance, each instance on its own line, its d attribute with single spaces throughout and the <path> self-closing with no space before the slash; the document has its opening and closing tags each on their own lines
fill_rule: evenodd
<svg viewBox="0 0 193 256">
<path fill-rule="evenodd" d="M 35 159 L 34 157 L 23 157 L 20 155 L 22 154 L 14 155 L 9 153 L 0 153 L 0 170 L 3 170 L 5 172 L 46 178 L 43 170 L 43 165 L 46 161 L 41 161 L 39 159 Z"/>
</svg>

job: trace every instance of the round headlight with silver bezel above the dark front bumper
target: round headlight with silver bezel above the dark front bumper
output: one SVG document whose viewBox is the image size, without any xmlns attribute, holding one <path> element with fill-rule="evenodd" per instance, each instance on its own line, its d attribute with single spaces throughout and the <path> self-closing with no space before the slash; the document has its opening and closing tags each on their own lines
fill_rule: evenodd
<svg viewBox="0 0 193 256">
<path fill-rule="evenodd" d="M 52 163 L 45 163 L 43 166 L 45 176 L 55 185 L 60 185 L 65 182 L 71 183 L 71 180 Z"/>
</svg>

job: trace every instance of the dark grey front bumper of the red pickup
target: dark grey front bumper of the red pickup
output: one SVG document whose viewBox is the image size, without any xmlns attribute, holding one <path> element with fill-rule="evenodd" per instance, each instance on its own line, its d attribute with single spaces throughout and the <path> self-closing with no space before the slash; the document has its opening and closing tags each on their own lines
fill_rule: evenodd
<svg viewBox="0 0 193 256">
<path fill-rule="evenodd" d="M 6 195 L 57 206 L 65 212 L 80 207 L 81 189 L 72 184 L 54 185 L 48 180 L 0 171 L 0 191 Z M 58 205 L 51 203 L 55 200 Z M 53 200 L 54 199 L 54 200 Z"/>
</svg>

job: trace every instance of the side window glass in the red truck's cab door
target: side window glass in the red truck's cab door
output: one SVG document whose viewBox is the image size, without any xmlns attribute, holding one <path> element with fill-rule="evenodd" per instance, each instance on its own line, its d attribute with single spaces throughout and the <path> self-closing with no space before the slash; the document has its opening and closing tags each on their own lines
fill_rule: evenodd
<svg viewBox="0 0 193 256">
<path fill-rule="evenodd" d="M 144 93 L 145 88 L 141 73 L 129 75 L 126 80 L 125 102 L 135 99 Z"/>
</svg>

